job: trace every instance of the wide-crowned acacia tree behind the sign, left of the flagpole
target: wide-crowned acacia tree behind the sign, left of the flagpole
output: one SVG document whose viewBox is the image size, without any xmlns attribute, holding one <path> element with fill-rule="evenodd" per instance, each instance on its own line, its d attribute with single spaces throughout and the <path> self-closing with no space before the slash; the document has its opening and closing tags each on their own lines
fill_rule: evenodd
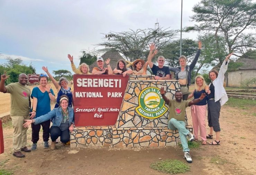
<svg viewBox="0 0 256 175">
<path fill-rule="evenodd" d="M 122 32 L 110 31 L 103 34 L 104 42 L 97 44 L 103 46 L 100 52 L 115 50 L 126 57 L 129 61 L 141 58 L 145 59 L 149 53 L 148 45 L 155 43 L 159 51 L 166 46 L 177 35 L 176 30 L 158 29 L 137 29 Z"/>
</svg>

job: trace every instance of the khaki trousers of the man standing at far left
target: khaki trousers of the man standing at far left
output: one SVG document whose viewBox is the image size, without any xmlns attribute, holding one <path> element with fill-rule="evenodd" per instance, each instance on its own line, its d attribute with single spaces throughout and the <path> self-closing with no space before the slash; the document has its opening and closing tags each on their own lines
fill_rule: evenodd
<svg viewBox="0 0 256 175">
<path fill-rule="evenodd" d="M 24 148 L 27 145 L 27 130 L 24 128 L 24 120 L 29 120 L 28 116 L 11 116 L 12 126 L 13 126 L 13 151 L 20 151 L 21 148 Z"/>
</svg>

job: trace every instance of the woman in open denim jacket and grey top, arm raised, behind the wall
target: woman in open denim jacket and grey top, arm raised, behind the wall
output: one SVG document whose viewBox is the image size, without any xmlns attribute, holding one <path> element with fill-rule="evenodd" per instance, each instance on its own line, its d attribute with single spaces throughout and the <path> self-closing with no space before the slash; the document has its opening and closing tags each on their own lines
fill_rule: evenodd
<svg viewBox="0 0 256 175">
<path fill-rule="evenodd" d="M 193 70 L 196 62 L 198 61 L 201 48 L 202 48 L 202 42 L 199 40 L 198 50 L 195 54 L 195 58 L 193 59 L 190 65 L 186 65 L 187 58 L 184 55 L 182 55 L 179 58 L 180 67 L 170 67 L 170 71 L 175 73 L 175 79 L 179 80 L 181 89 L 182 87 L 187 87 L 189 89 L 189 86 L 191 85 L 191 71 Z M 183 94 L 183 100 L 188 100 L 189 90 L 185 93 L 182 92 L 182 94 Z"/>
</svg>

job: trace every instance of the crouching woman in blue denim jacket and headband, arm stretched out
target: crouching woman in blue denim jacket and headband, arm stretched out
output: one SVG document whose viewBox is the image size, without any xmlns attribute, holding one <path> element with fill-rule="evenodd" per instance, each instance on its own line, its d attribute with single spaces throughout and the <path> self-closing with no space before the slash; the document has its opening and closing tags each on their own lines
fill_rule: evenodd
<svg viewBox="0 0 256 175">
<path fill-rule="evenodd" d="M 55 149 L 56 139 L 61 137 L 63 143 L 68 142 L 70 140 L 70 132 L 74 128 L 74 110 L 68 107 L 68 97 L 66 95 L 61 96 L 60 107 L 54 108 L 47 114 L 35 119 L 25 120 L 26 123 L 23 126 L 28 128 L 31 123 L 37 125 L 50 119 L 53 119 L 53 124 L 50 128 L 51 149 Z"/>
</svg>

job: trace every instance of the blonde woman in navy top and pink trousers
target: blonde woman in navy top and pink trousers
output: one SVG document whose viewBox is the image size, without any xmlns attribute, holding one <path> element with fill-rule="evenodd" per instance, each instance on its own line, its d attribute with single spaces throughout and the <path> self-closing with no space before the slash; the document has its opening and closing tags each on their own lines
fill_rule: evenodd
<svg viewBox="0 0 256 175">
<path fill-rule="evenodd" d="M 206 85 L 204 78 L 201 75 L 195 77 L 195 90 L 189 95 L 188 99 L 194 96 L 194 99 L 198 99 L 202 93 L 210 94 L 209 86 Z M 191 116 L 193 122 L 193 130 L 195 140 L 198 140 L 198 128 L 200 129 L 200 136 L 202 139 L 202 145 L 206 145 L 206 128 L 205 128 L 205 116 L 206 116 L 206 102 L 207 96 L 200 102 L 191 106 Z"/>
</svg>

